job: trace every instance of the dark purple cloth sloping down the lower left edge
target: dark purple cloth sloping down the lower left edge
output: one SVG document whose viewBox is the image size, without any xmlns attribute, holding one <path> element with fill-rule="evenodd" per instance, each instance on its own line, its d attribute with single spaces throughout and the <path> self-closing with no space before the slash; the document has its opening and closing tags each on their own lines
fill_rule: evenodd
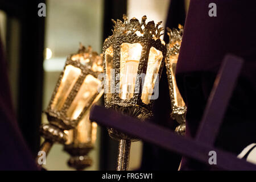
<svg viewBox="0 0 256 182">
<path fill-rule="evenodd" d="M 16 122 L 0 40 L 0 170 L 37 170 Z"/>
</svg>

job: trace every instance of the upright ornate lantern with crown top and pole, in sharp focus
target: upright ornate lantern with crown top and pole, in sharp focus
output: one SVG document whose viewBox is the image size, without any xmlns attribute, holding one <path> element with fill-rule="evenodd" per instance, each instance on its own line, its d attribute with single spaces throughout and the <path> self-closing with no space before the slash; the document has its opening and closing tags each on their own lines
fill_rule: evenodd
<svg viewBox="0 0 256 182">
<path fill-rule="evenodd" d="M 105 40 L 103 46 L 105 73 L 105 106 L 129 114 L 142 121 L 152 116 L 151 107 L 158 98 L 158 81 L 166 57 L 167 48 L 160 39 L 162 22 L 141 23 L 126 15 L 114 22 L 113 35 Z M 120 121 L 122 122 L 122 121 Z M 114 129 L 108 129 L 110 137 L 119 140 L 117 170 L 129 169 L 131 141 Z"/>
</svg>

